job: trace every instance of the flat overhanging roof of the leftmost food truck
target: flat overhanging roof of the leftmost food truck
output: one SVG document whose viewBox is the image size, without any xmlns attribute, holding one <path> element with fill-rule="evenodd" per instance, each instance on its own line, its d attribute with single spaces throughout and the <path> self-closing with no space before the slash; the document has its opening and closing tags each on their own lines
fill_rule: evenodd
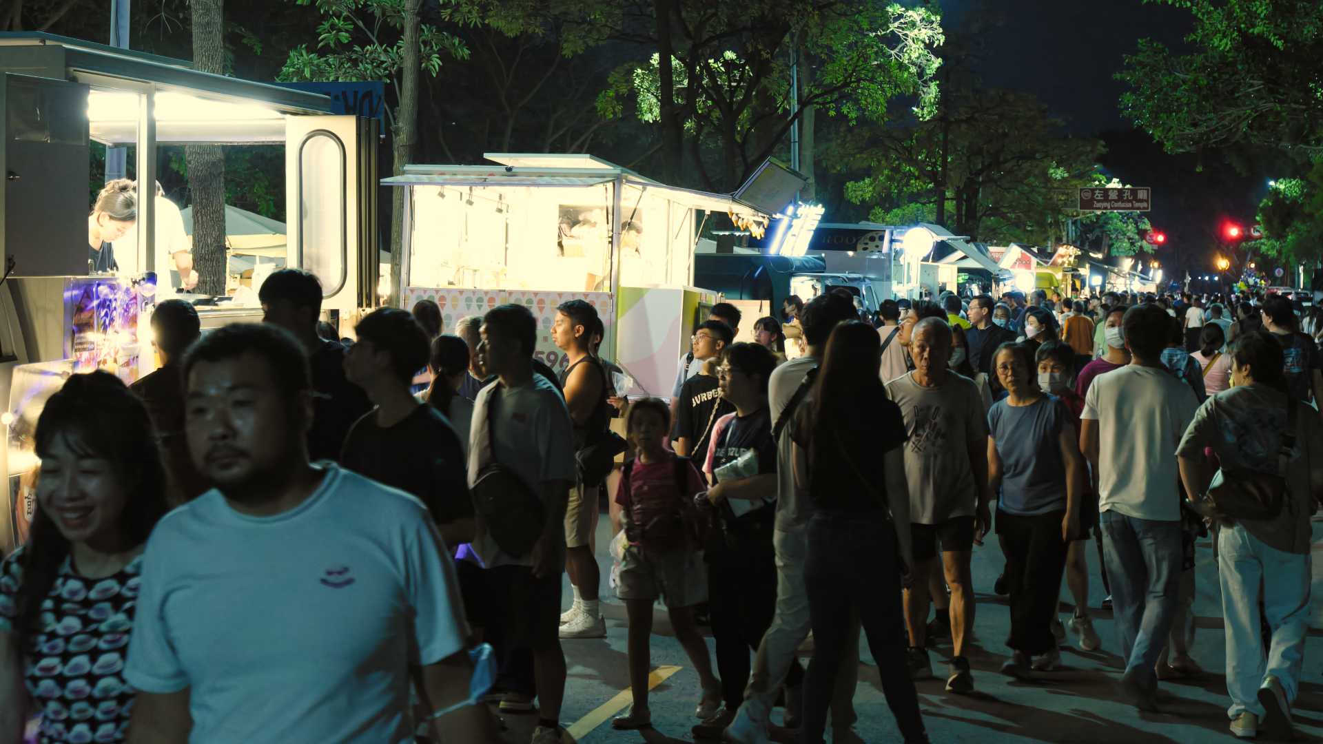
<svg viewBox="0 0 1323 744">
<path fill-rule="evenodd" d="M 11 68 L 21 60 L 25 52 L 24 48 L 58 48 L 64 53 L 66 74 L 87 74 L 99 78 L 151 82 L 161 89 L 188 91 L 212 98 L 259 102 L 290 114 L 327 114 L 333 110 L 331 98 L 318 93 L 202 73 L 192 69 L 192 64 L 184 60 L 159 57 L 130 49 L 116 49 L 103 44 L 49 33 L 0 33 L 0 53 L 3 53 L 0 56 L 0 69 Z"/>
</svg>

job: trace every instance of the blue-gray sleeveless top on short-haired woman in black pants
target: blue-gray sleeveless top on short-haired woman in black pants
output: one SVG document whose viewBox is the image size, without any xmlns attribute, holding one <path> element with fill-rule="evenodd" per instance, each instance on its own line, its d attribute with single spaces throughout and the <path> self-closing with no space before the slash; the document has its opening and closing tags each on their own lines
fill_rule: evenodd
<svg viewBox="0 0 1323 744">
<path fill-rule="evenodd" d="M 1061 459 L 1061 429 L 1070 422 L 1060 398 L 1043 396 L 1032 405 L 1007 398 L 988 410 L 988 434 L 1002 459 L 998 508 L 1035 516 L 1066 508 L 1066 466 Z"/>
</svg>

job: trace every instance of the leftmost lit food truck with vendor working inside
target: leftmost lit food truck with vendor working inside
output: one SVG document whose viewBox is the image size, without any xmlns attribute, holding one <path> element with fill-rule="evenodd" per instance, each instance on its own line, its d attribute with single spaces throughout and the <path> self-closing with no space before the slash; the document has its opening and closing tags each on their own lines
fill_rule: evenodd
<svg viewBox="0 0 1323 744">
<path fill-rule="evenodd" d="M 191 69 L 183 60 L 44 33 L 0 33 L 0 552 L 32 514 L 32 437 L 42 402 L 75 372 L 132 381 L 155 368 L 157 148 L 284 151 L 286 266 L 316 274 L 335 322 L 376 303 L 376 122 L 331 115 L 325 95 Z M 94 274 L 93 143 L 128 148 L 138 212 L 120 267 Z M 99 177 L 99 175 L 97 175 Z M 274 249 L 273 249 L 274 250 Z M 250 287 L 251 289 L 251 287 Z M 259 320 L 255 294 L 191 297 L 202 327 Z M 239 301 L 235 301 L 239 298 Z"/>
</svg>

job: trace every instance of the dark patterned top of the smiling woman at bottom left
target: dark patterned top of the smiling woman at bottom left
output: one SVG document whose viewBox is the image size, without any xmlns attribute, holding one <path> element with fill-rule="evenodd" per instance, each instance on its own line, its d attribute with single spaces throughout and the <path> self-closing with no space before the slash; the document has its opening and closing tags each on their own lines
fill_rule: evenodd
<svg viewBox="0 0 1323 744">
<path fill-rule="evenodd" d="M 13 631 L 22 584 L 19 548 L 0 567 L 0 631 Z M 24 653 L 24 680 L 40 716 L 40 744 L 124 741 L 134 690 L 124 682 L 139 555 L 112 576 L 86 579 L 66 557 L 41 604 Z"/>
</svg>

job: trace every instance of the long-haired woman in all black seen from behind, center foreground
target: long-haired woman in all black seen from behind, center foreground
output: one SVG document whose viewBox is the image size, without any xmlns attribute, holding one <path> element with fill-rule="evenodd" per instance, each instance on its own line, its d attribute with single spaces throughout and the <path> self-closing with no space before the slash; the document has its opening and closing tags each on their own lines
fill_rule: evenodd
<svg viewBox="0 0 1323 744">
<path fill-rule="evenodd" d="M 796 486 L 814 507 L 804 581 L 815 651 L 799 735 L 807 744 L 823 740 L 852 610 L 868 634 L 904 740 L 927 741 L 902 641 L 901 577 L 913 565 L 905 424 L 877 379 L 880 364 L 881 342 L 872 326 L 837 326 L 811 396 L 791 424 Z"/>
</svg>

